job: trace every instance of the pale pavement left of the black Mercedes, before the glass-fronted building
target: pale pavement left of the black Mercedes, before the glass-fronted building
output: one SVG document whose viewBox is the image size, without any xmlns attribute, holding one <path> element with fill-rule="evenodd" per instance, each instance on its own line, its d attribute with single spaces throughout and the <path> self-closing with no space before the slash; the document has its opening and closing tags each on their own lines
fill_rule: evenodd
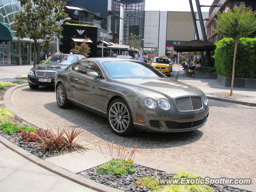
<svg viewBox="0 0 256 192">
<path fill-rule="evenodd" d="M 26 77 L 32 67 L 32 65 L 0 66 L 0 81 L 12 81 L 17 75 Z"/>
</svg>

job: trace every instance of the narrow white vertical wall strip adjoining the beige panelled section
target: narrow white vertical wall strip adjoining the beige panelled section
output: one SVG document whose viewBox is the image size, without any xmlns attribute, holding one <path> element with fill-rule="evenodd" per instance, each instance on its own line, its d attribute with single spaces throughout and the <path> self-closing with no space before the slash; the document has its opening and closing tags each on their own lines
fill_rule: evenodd
<svg viewBox="0 0 256 192">
<path fill-rule="evenodd" d="M 158 56 L 165 55 L 166 51 L 167 11 L 160 12 Z"/>
</svg>

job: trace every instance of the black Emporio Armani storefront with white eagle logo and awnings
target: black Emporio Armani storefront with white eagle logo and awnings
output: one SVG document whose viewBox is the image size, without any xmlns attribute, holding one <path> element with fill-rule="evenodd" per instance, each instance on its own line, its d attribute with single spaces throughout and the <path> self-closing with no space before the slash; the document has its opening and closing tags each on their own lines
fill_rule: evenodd
<svg viewBox="0 0 256 192">
<path fill-rule="evenodd" d="M 90 38 L 88 45 L 90 47 L 89 57 L 101 57 L 102 56 L 102 40 L 104 36 L 103 48 L 104 56 L 110 56 L 109 49 L 106 49 L 106 46 L 115 45 L 117 34 L 106 34 L 108 31 L 102 28 L 94 26 L 82 26 L 82 25 L 62 25 L 63 27 L 63 38 L 62 45 L 60 46 L 60 51 L 63 53 L 69 53 L 75 46 L 75 44 L 80 45 L 84 37 Z M 114 39 L 115 36 L 115 39 Z"/>
</svg>

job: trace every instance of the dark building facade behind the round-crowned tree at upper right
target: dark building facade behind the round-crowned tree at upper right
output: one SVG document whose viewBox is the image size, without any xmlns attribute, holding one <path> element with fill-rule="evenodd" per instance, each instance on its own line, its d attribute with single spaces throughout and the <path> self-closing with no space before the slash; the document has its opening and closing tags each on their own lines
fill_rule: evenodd
<svg viewBox="0 0 256 192">
<path fill-rule="evenodd" d="M 218 7 L 211 7 L 209 10 L 209 21 L 206 22 L 207 28 L 207 40 L 209 42 L 217 42 L 223 37 L 214 32 L 214 29 L 217 28 L 214 18 L 216 18 L 217 12 L 225 12 L 226 7 L 233 8 L 235 5 L 240 5 L 240 3 L 246 4 L 246 6 L 252 6 L 253 10 L 256 10 L 256 1 L 255 0 L 214 0 L 212 5 L 217 4 Z M 255 36 L 253 34 L 252 36 Z"/>
</svg>

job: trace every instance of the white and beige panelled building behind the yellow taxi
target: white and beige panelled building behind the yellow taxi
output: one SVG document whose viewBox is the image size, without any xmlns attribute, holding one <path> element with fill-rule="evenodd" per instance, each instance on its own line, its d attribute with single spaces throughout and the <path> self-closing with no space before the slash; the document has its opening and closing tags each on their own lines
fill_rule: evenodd
<svg viewBox="0 0 256 192">
<path fill-rule="evenodd" d="M 145 11 L 143 52 L 177 60 L 174 45 L 194 39 L 191 12 Z"/>
</svg>

